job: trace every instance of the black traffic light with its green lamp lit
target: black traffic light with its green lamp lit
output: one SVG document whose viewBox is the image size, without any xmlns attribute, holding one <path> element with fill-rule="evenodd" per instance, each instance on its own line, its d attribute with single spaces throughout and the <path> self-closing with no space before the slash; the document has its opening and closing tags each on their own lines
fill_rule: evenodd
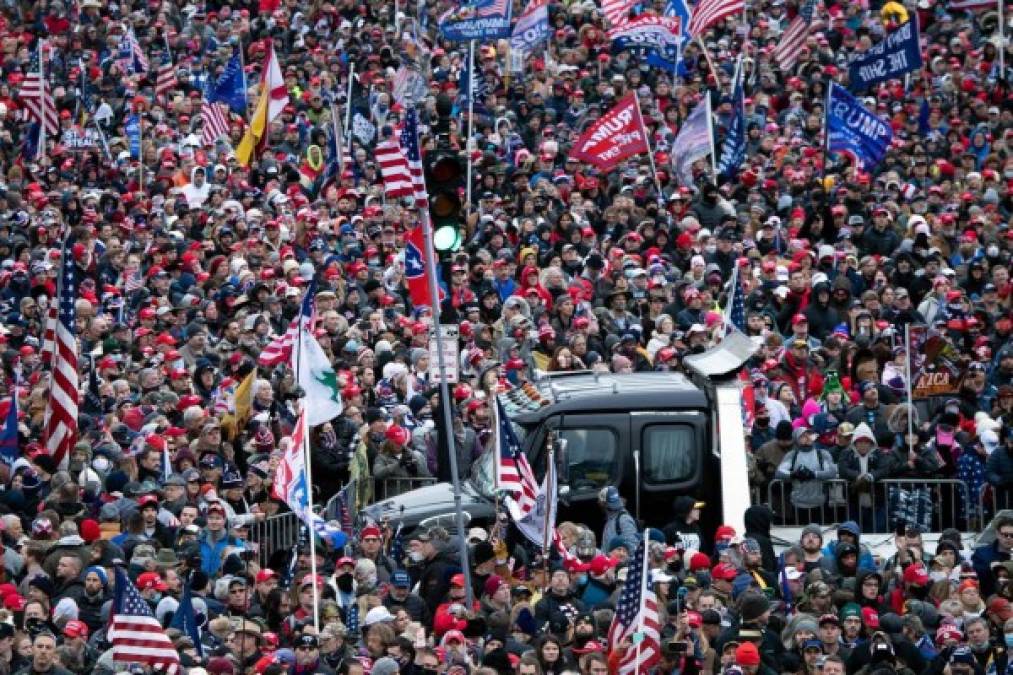
<svg viewBox="0 0 1013 675">
<path fill-rule="evenodd" d="M 465 164 L 451 148 L 448 139 L 452 106 L 446 94 L 437 99 L 437 147 L 426 154 L 424 166 L 433 246 L 439 252 L 457 250 L 465 238 L 464 205 L 461 202 Z"/>
</svg>

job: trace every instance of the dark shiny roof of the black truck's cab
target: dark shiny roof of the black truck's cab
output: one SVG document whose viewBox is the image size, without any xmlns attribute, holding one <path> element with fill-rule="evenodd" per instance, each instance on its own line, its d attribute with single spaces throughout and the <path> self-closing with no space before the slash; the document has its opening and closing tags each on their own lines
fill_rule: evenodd
<svg viewBox="0 0 1013 675">
<path fill-rule="evenodd" d="M 535 403 L 518 422 L 534 423 L 557 413 L 671 410 L 708 407 L 707 396 L 682 373 L 563 373 L 535 382 Z"/>
</svg>

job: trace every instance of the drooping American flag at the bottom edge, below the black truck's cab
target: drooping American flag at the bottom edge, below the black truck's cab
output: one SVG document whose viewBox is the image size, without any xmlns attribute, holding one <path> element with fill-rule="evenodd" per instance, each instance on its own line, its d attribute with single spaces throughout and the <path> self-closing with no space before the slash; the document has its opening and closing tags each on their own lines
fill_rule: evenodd
<svg viewBox="0 0 1013 675">
<path fill-rule="evenodd" d="M 609 627 L 609 649 L 615 651 L 634 633 L 642 640 L 629 645 L 619 662 L 619 675 L 646 673 L 661 656 L 660 622 L 657 616 L 657 596 L 647 583 L 647 537 L 640 539 L 623 584 L 616 615 Z"/>
</svg>

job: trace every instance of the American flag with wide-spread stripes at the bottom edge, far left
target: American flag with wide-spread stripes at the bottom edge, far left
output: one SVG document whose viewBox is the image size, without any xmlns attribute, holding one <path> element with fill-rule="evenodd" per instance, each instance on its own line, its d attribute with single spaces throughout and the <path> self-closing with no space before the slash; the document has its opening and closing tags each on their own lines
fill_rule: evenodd
<svg viewBox="0 0 1013 675">
<path fill-rule="evenodd" d="M 181 672 L 172 641 L 123 568 L 116 568 L 116 593 L 107 638 L 112 644 L 113 661 L 161 667 L 168 675 Z"/>
</svg>

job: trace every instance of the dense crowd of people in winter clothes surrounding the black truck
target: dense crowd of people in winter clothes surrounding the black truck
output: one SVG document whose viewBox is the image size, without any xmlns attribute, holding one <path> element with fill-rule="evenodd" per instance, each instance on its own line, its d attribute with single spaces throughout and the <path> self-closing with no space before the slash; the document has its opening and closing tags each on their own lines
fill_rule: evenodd
<svg viewBox="0 0 1013 675">
<path fill-rule="evenodd" d="M 523 63 L 506 40 L 478 45 L 468 120 L 468 45 L 440 35 L 445 0 L 4 3 L 0 377 L 14 421 L 0 443 L 0 675 L 151 672 L 113 658 L 116 570 L 188 675 L 617 675 L 640 638 L 612 645 L 609 626 L 644 536 L 661 625 L 652 672 L 1013 672 L 1009 12 L 815 3 L 782 70 L 797 4 L 746 3 L 667 70 L 613 49 L 599 3 L 552 0 L 552 32 Z M 904 20 L 919 22 L 925 66 L 861 92 L 894 139 L 859 168 L 823 149 L 827 86 L 847 85 L 849 61 Z M 144 69 L 133 48 L 124 59 L 125 36 Z M 206 145 L 202 97 L 236 50 L 252 109 L 268 42 L 289 103 L 246 166 L 234 148 L 248 116 L 230 113 Z M 703 159 L 685 184 L 674 140 L 709 96 L 720 148 L 739 56 L 745 161 L 718 179 Z M 421 219 L 385 198 L 375 154 L 404 120 L 408 66 L 425 85 L 422 153 L 446 95 L 450 147 L 471 165 L 464 241 L 441 265 L 461 372 L 443 405 L 462 473 L 492 446 L 490 392 L 558 371 L 682 371 L 722 340 L 741 285 L 758 346 L 750 480 L 763 498 L 781 491 L 797 542 L 775 553 L 780 509 L 750 508 L 744 532 L 701 531 L 707 507 L 682 497 L 638 523 L 603 485 L 602 513 L 559 524 L 565 557 L 498 521 L 403 537 L 357 521 L 343 548 L 318 542 L 315 564 L 305 539 L 258 548 L 257 528 L 288 511 L 271 483 L 300 404 L 289 364 L 259 359 L 307 289 L 343 404 L 310 432 L 315 502 L 354 480 L 358 512 L 450 475 L 433 313 L 410 302 L 404 268 Z M 38 134 L 29 102 L 40 76 L 56 134 Z M 627 93 L 651 156 L 609 173 L 569 157 Z M 346 111 L 347 161 L 324 180 L 332 116 Z M 58 463 L 46 333 L 66 270 L 80 402 Z M 960 481 L 956 529 L 926 545 L 938 517 L 899 515 L 888 478 Z M 842 480 L 843 512 L 829 511 Z M 982 535 L 977 547 L 958 530 Z M 873 555 L 872 531 L 895 552 Z M 184 588 L 196 633 L 173 621 Z"/>
</svg>

